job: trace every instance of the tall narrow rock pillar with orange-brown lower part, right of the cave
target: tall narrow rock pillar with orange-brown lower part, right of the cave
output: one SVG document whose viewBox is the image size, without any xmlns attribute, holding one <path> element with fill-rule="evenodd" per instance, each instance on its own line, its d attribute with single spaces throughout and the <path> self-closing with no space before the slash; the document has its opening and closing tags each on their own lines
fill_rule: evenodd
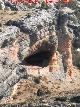
<svg viewBox="0 0 80 107">
<path fill-rule="evenodd" d="M 66 8 L 65 8 L 66 9 Z M 73 40 L 73 32 L 70 28 L 67 27 L 68 18 L 70 17 L 68 14 L 72 13 L 72 10 L 60 10 L 59 19 L 57 23 L 57 31 L 58 31 L 58 40 L 59 40 L 59 50 L 63 55 L 63 64 L 66 72 L 71 76 L 73 71 L 72 64 L 72 40 Z M 66 11 L 66 12 L 65 12 Z M 61 42 L 62 41 L 62 42 Z"/>
</svg>

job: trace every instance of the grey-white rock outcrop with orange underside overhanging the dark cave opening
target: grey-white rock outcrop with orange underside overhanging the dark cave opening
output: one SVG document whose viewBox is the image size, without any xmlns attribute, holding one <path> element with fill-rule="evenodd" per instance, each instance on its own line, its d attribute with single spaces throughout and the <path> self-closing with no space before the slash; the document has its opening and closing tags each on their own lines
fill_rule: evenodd
<svg viewBox="0 0 80 107">
<path fill-rule="evenodd" d="M 57 49 L 58 39 L 55 25 L 53 25 L 55 11 L 52 14 L 46 10 L 37 10 L 37 13 L 34 11 L 34 14 L 30 17 L 27 16 L 19 21 L 8 21 L 6 23 L 6 25 L 19 27 L 21 31 L 29 36 L 28 46 L 20 51 L 23 58 L 39 51 L 55 51 Z M 25 42 L 27 42 L 27 39 Z"/>
</svg>

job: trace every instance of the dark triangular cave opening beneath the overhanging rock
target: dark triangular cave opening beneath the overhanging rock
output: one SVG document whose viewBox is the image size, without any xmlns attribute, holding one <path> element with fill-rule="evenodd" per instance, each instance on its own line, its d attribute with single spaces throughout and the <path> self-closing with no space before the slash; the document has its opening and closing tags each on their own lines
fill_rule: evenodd
<svg viewBox="0 0 80 107">
<path fill-rule="evenodd" d="M 49 65 L 50 56 L 51 56 L 50 51 L 40 51 L 36 54 L 26 57 L 23 60 L 23 64 L 28 66 L 33 65 L 39 67 L 47 67 Z"/>
</svg>

